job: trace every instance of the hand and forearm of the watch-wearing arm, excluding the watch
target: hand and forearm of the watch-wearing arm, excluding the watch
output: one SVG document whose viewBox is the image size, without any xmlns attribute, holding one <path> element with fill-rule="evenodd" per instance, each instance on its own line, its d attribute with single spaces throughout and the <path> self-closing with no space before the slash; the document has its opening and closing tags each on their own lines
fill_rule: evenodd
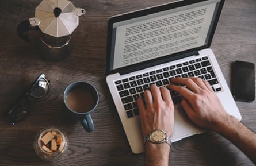
<svg viewBox="0 0 256 166">
<path fill-rule="evenodd" d="M 144 137 L 154 129 L 165 130 L 167 136 L 173 133 L 174 105 L 170 91 L 165 87 L 151 85 L 151 91 L 144 92 L 145 102 L 142 98 L 137 100 L 140 110 L 140 124 Z M 166 143 L 145 145 L 145 165 L 169 165 L 170 146 Z"/>
</svg>

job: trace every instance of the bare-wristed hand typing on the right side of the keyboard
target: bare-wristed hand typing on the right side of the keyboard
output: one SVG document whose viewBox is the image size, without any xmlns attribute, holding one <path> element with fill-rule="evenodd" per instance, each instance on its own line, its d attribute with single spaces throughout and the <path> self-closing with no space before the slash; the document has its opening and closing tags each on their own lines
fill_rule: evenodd
<svg viewBox="0 0 256 166">
<path fill-rule="evenodd" d="M 215 129 L 226 121 L 229 115 L 206 80 L 174 78 L 171 82 L 186 86 L 171 84 L 168 88 L 181 94 L 183 97 L 181 106 L 194 123 L 202 128 Z"/>
</svg>

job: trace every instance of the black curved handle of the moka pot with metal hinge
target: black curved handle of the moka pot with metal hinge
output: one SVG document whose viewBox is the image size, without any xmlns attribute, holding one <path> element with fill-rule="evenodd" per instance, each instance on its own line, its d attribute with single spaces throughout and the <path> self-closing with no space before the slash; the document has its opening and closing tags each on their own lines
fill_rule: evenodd
<svg viewBox="0 0 256 166">
<path fill-rule="evenodd" d="M 37 25 L 39 25 L 40 20 L 38 18 L 29 18 L 28 20 L 22 21 L 17 26 L 17 33 L 20 38 L 25 40 L 26 42 L 29 42 L 29 36 L 28 34 L 24 34 L 28 30 L 40 30 Z"/>
</svg>

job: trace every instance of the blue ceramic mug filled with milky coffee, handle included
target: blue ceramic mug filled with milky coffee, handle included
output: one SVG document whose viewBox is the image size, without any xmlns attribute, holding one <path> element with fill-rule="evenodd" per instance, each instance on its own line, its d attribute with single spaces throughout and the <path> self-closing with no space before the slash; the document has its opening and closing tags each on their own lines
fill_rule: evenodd
<svg viewBox="0 0 256 166">
<path fill-rule="evenodd" d="M 71 117 L 80 119 L 86 132 L 94 129 L 91 112 L 98 105 L 99 95 L 96 88 L 87 82 L 74 82 L 68 85 L 63 94 L 64 105 Z"/>
</svg>

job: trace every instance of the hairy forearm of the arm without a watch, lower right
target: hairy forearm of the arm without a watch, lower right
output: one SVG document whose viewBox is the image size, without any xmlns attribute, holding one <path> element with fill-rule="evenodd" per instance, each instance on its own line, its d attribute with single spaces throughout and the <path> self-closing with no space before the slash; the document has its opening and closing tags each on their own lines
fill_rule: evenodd
<svg viewBox="0 0 256 166">
<path fill-rule="evenodd" d="M 230 117 L 216 132 L 233 142 L 256 165 L 256 134 L 246 128 L 238 119 Z"/>
</svg>

